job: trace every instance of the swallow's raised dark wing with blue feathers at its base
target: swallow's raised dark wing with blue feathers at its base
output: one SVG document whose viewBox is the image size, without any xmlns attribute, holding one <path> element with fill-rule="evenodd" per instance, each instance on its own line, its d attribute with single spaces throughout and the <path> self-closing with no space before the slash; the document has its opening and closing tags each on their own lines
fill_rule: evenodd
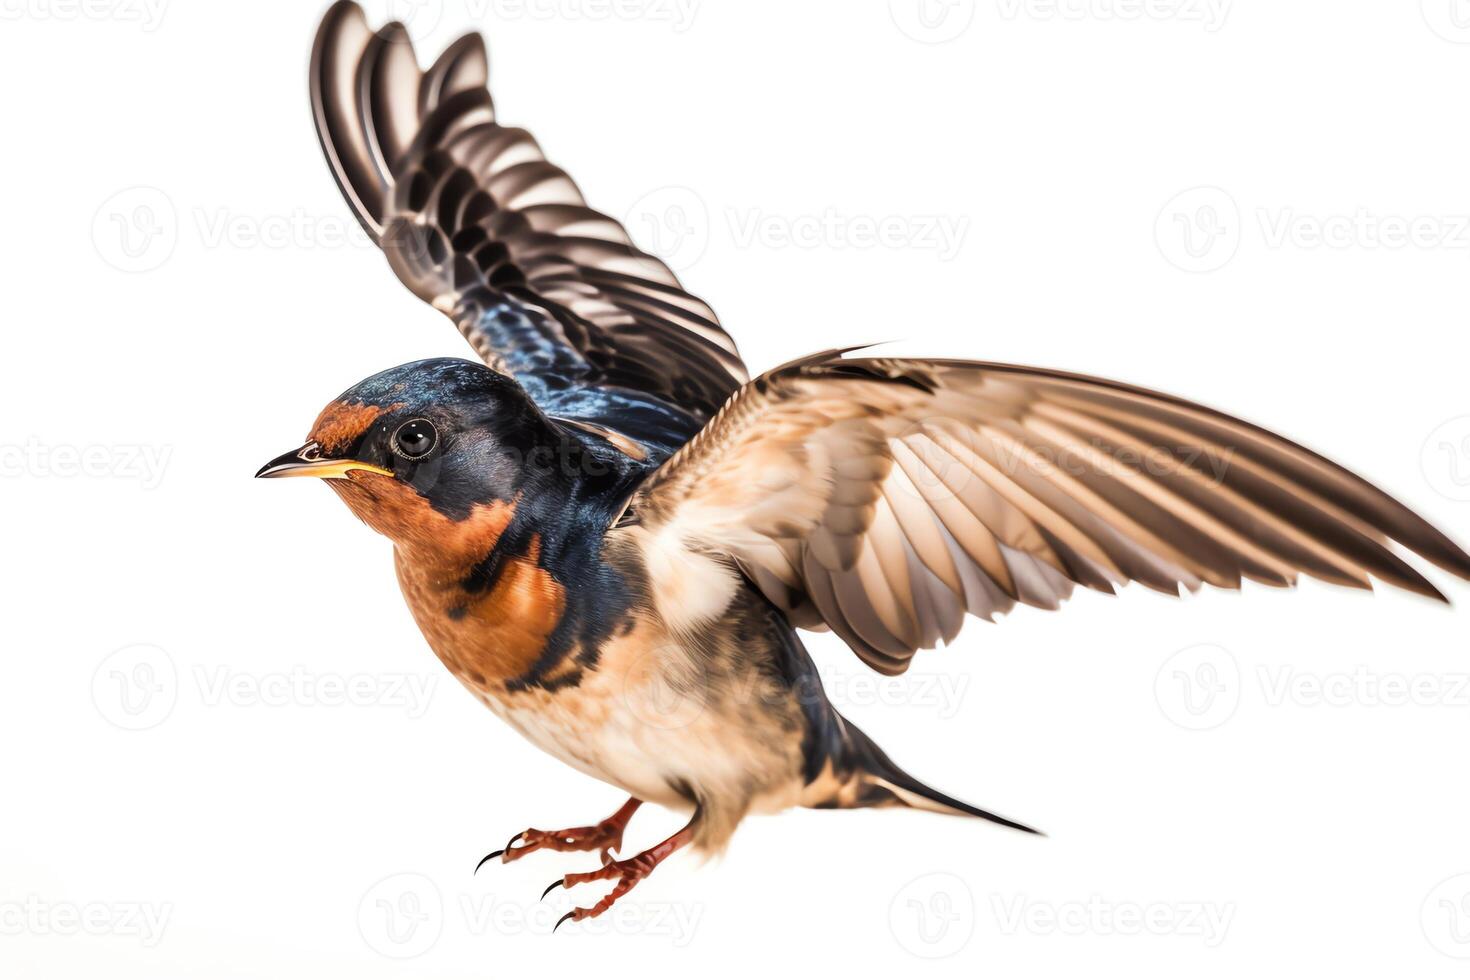
<svg viewBox="0 0 1470 980">
<path fill-rule="evenodd" d="M 495 122 L 478 34 L 420 71 L 400 24 L 322 19 L 312 110 L 363 228 L 404 285 L 548 413 L 662 454 L 745 381 L 729 335 L 657 259 Z"/>
</svg>

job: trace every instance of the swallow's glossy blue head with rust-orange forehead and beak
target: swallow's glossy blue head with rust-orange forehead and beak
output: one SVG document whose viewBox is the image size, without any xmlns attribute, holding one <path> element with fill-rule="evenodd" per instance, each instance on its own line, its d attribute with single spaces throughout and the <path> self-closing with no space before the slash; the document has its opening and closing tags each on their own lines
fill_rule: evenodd
<svg viewBox="0 0 1470 980">
<path fill-rule="evenodd" d="M 513 507 L 534 478 L 528 461 L 556 438 L 506 375 L 467 360 L 422 360 L 348 388 L 322 410 L 304 445 L 256 476 L 325 479 L 395 544 L 441 547 L 445 523 Z"/>
</svg>

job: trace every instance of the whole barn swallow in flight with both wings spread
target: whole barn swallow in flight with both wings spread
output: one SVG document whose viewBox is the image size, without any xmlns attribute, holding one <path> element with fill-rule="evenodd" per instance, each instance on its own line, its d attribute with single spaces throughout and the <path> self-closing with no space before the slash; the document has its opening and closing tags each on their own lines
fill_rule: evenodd
<svg viewBox="0 0 1470 980">
<path fill-rule="evenodd" d="M 1170 395 L 853 350 L 751 381 L 714 311 L 497 122 L 475 34 L 420 71 L 401 25 L 328 10 L 310 66 L 326 160 L 481 360 L 353 385 L 259 476 L 326 479 L 392 542 L 444 666 L 629 795 L 481 861 L 600 852 L 553 887 L 612 890 L 562 921 L 679 848 L 719 851 L 751 813 L 903 807 L 1029 830 L 891 761 L 823 695 L 798 629 L 900 674 L 966 614 L 1055 610 L 1078 585 L 1177 597 L 1308 574 L 1444 599 L 1402 551 L 1470 577 L 1460 547 L 1358 476 Z M 645 801 L 689 821 L 619 860 Z"/>
</svg>

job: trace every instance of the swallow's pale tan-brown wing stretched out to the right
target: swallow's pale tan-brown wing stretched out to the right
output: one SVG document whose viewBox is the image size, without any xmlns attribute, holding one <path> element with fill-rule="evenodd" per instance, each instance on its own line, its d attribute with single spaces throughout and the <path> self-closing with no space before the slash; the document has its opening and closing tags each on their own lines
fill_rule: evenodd
<svg viewBox="0 0 1470 980">
<path fill-rule="evenodd" d="M 1169 395 L 1005 364 L 788 364 L 632 505 L 660 547 L 732 558 L 883 673 L 966 613 L 1057 608 L 1075 585 L 1177 595 L 1310 574 L 1444 599 L 1394 542 L 1470 577 L 1445 535 L 1310 450 Z"/>
</svg>

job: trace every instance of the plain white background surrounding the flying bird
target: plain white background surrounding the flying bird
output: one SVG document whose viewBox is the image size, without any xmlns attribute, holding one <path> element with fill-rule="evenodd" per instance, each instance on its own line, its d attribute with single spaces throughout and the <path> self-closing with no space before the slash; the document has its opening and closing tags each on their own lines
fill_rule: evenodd
<svg viewBox="0 0 1470 980">
<path fill-rule="evenodd" d="M 894 339 L 1114 376 L 1470 538 L 1463 0 L 419 7 L 420 59 L 482 29 L 501 118 L 753 367 Z M 587 855 L 470 868 L 617 790 L 441 670 L 325 488 L 250 479 L 359 378 L 467 356 L 322 163 L 318 6 L 0 13 L 4 976 L 1463 976 L 1445 574 L 1458 611 L 1080 595 L 897 682 L 810 638 L 895 760 L 1051 836 L 753 818 L 548 937 Z"/>
</svg>

